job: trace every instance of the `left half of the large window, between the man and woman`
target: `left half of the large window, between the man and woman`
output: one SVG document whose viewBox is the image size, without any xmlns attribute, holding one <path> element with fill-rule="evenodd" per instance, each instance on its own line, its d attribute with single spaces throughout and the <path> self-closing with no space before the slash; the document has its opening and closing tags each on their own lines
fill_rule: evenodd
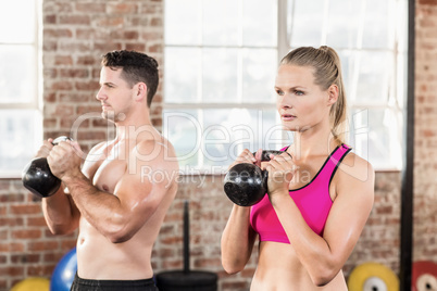
<svg viewBox="0 0 437 291">
<path fill-rule="evenodd" d="M 277 148 L 276 64 L 275 2 L 165 1 L 163 131 L 185 172 L 214 172 L 245 148 Z"/>
</svg>

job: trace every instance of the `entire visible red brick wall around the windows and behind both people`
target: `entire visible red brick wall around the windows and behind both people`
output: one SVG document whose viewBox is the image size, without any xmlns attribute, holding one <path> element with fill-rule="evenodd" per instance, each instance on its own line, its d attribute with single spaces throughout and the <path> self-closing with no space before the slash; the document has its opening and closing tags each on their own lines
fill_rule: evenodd
<svg viewBox="0 0 437 291">
<path fill-rule="evenodd" d="M 414 260 L 437 261 L 435 173 L 437 155 L 437 5 L 417 0 L 416 20 L 416 143 Z M 76 118 L 100 112 L 98 88 L 100 55 L 114 49 L 136 49 L 154 56 L 163 68 L 163 1 L 130 0 L 43 1 L 45 137 L 68 135 Z M 163 72 L 161 71 L 161 79 Z M 162 87 L 152 119 L 161 125 Z M 437 115 L 436 115 L 437 116 Z M 111 127 L 110 127 L 111 128 Z M 98 118 L 80 123 L 77 139 L 85 150 L 111 138 L 108 124 Z M 367 261 L 399 271 L 399 173 L 377 173 L 375 206 L 346 274 Z M 232 204 L 222 191 L 220 176 L 185 176 L 157 241 L 152 263 L 157 273 L 183 267 L 183 202 L 190 201 L 191 268 L 220 275 L 220 290 L 248 290 L 257 254 L 241 274 L 224 274 L 220 239 Z M 53 237 L 47 230 L 40 201 L 20 180 L 0 180 L 0 291 L 30 276 L 50 275 L 60 257 L 74 246 L 75 236 Z"/>
</svg>

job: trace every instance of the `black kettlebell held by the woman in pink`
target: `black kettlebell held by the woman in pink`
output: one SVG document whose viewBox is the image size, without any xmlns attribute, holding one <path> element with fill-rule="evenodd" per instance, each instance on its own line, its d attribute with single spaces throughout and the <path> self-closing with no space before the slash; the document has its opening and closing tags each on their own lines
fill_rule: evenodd
<svg viewBox="0 0 437 291">
<path fill-rule="evenodd" d="M 270 155 L 279 155 L 282 151 L 263 151 L 261 161 L 270 161 Z M 253 153 L 254 155 L 255 153 Z M 232 202 L 239 206 L 252 206 L 260 202 L 267 192 L 269 172 L 253 164 L 236 164 L 226 174 L 224 189 Z"/>
</svg>

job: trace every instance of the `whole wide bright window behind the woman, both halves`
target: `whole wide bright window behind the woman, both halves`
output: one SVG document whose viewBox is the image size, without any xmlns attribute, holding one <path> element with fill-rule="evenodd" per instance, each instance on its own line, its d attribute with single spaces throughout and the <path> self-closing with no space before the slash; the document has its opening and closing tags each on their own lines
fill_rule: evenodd
<svg viewBox="0 0 437 291">
<path fill-rule="evenodd" d="M 342 61 L 349 143 L 377 169 L 400 168 L 405 38 L 405 0 L 167 0 L 164 135 L 184 172 L 220 172 L 245 148 L 285 146 L 278 61 L 328 45 Z"/>
</svg>

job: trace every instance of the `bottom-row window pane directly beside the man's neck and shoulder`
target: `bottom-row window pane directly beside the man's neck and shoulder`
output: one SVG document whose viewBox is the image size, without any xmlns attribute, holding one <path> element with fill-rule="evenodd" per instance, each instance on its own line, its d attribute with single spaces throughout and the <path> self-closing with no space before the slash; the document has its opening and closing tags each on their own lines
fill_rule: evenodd
<svg viewBox="0 0 437 291">
<path fill-rule="evenodd" d="M 179 167 L 198 164 L 201 126 L 196 110 L 164 110 L 163 135 L 172 142 Z"/>
</svg>

